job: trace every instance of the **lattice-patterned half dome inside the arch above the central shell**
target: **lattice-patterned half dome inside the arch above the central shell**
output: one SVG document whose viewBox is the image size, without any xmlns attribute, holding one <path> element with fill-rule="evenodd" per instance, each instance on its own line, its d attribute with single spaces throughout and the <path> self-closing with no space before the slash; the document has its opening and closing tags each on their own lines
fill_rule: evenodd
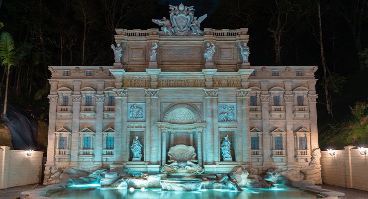
<svg viewBox="0 0 368 199">
<path fill-rule="evenodd" d="M 200 113 L 194 105 L 178 103 L 165 110 L 163 121 L 172 124 L 192 124 L 201 122 L 200 118 Z"/>
</svg>

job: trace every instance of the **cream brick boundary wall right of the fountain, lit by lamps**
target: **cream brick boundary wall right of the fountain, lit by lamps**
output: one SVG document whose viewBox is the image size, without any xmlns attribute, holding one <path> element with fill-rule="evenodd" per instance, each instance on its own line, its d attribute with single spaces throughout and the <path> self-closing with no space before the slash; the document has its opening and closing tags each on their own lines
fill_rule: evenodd
<svg viewBox="0 0 368 199">
<path fill-rule="evenodd" d="M 335 156 L 321 151 L 322 181 L 329 185 L 368 191 L 368 159 L 354 146 L 335 150 Z"/>
</svg>

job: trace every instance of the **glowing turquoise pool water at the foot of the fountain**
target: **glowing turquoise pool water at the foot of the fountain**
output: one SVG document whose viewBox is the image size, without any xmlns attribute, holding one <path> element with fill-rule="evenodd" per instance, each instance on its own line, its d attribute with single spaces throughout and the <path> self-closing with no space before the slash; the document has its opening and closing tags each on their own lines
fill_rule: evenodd
<svg viewBox="0 0 368 199">
<path fill-rule="evenodd" d="M 316 199 L 316 196 L 296 188 L 277 185 L 277 189 L 200 190 L 197 192 L 166 192 L 161 189 L 129 190 L 92 187 L 68 188 L 51 194 L 55 199 Z"/>
</svg>

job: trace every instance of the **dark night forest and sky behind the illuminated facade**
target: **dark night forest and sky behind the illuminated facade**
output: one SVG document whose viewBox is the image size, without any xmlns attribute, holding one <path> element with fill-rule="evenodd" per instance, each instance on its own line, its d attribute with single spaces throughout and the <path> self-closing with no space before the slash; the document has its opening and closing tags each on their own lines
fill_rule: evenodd
<svg viewBox="0 0 368 199">
<path fill-rule="evenodd" d="M 151 18 L 168 17 L 168 4 L 179 3 L 178 0 L 0 0 L 0 27 L 3 26 L 0 33 L 9 32 L 15 46 L 27 46 L 24 59 L 10 69 L 9 102 L 46 121 L 51 75 L 48 66 L 111 65 L 114 59 L 110 45 L 114 43 L 115 28 L 159 28 Z M 196 16 L 208 14 L 201 28 L 248 27 L 253 66 L 317 65 L 321 149 L 348 144 L 368 147 L 367 0 L 183 0 L 183 3 L 194 5 Z M 4 77 L 1 70 L 1 91 Z"/>
</svg>

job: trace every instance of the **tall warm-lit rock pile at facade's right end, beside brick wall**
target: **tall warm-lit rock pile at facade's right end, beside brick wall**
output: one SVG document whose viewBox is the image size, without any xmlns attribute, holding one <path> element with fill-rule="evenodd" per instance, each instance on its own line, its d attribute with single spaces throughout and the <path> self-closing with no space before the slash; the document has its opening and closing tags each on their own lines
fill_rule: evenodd
<svg viewBox="0 0 368 199">
<path fill-rule="evenodd" d="M 321 150 L 319 148 L 313 149 L 312 158 L 308 166 L 300 170 L 300 172 L 304 175 L 303 182 L 322 184 L 320 158 Z"/>
</svg>

